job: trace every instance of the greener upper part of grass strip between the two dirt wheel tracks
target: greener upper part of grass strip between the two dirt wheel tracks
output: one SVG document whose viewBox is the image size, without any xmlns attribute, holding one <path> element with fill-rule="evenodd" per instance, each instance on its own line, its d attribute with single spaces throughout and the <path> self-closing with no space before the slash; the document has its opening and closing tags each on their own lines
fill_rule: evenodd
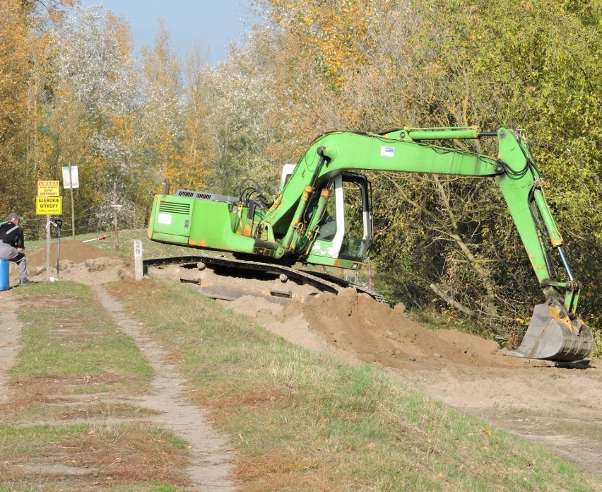
<svg viewBox="0 0 602 492">
<path fill-rule="evenodd" d="M 90 288 L 71 281 L 40 283 L 19 291 L 23 303 L 18 363 L 12 377 L 90 377 L 146 385 L 153 375 L 134 341 L 119 330 Z"/>
</svg>

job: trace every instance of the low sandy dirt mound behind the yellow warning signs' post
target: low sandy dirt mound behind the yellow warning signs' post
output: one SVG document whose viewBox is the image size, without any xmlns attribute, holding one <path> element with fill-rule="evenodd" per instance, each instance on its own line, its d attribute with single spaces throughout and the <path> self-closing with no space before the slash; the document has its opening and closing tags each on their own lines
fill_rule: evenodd
<svg viewBox="0 0 602 492">
<path fill-rule="evenodd" d="M 86 285 L 98 285 L 123 279 L 131 276 L 124 262 L 107 252 L 110 245 L 95 247 L 85 242 L 76 240 L 61 240 L 61 249 L 58 243 L 50 245 L 50 276 L 59 280 L 73 280 Z M 34 253 L 27 253 L 28 278 L 33 281 L 46 281 L 46 248 Z M 57 254 L 59 271 L 57 273 Z M 18 283 L 16 266 L 11 264 L 11 285 Z"/>
</svg>

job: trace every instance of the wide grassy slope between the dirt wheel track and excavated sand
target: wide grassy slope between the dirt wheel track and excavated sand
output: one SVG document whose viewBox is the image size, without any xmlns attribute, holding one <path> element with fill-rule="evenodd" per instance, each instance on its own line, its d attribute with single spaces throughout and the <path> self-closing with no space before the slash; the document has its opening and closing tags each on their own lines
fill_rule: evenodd
<svg viewBox="0 0 602 492">
<path fill-rule="evenodd" d="M 542 447 L 369 365 L 288 344 L 184 286 L 110 288 L 170 348 L 199 403 L 235 436 L 244 490 L 594 490 L 595 479 Z"/>
</svg>

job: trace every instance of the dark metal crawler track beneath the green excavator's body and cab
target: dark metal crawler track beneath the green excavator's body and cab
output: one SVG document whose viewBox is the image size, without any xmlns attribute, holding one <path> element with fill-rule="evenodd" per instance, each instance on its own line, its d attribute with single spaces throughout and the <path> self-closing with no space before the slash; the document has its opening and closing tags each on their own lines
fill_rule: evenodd
<svg viewBox="0 0 602 492">
<path fill-rule="evenodd" d="M 346 288 L 355 288 L 356 291 L 370 295 L 370 297 L 374 298 L 374 300 L 377 300 L 380 303 L 386 303 L 386 299 L 372 289 L 357 286 L 343 279 L 337 279 L 336 277 L 326 276 L 323 274 L 314 274 L 313 272 L 295 269 L 287 265 L 254 262 L 247 259 L 213 256 L 211 254 L 195 254 L 191 256 L 144 259 L 143 273 L 145 275 L 148 274 L 148 269 L 150 267 L 181 265 L 188 268 L 194 268 L 199 264 L 202 264 L 203 267 L 209 267 L 212 269 L 221 268 L 232 271 L 247 271 L 252 275 L 285 275 L 288 279 L 291 279 L 296 283 L 312 286 L 320 292 L 339 293 Z M 210 295 L 210 297 L 213 297 L 213 295 Z"/>
</svg>

